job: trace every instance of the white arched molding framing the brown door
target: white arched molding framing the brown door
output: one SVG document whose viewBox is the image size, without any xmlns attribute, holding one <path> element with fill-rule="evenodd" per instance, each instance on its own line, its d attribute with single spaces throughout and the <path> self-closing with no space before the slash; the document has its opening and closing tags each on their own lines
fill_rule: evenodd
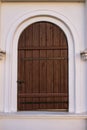
<svg viewBox="0 0 87 130">
<path fill-rule="evenodd" d="M 4 112 L 17 112 L 17 51 L 22 31 L 37 21 L 48 21 L 58 25 L 68 40 L 69 50 L 69 112 L 80 112 L 79 39 L 72 23 L 62 14 L 48 10 L 35 10 L 14 21 L 6 40 L 5 99 Z M 79 82 L 77 82 L 79 81 Z"/>
</svg>

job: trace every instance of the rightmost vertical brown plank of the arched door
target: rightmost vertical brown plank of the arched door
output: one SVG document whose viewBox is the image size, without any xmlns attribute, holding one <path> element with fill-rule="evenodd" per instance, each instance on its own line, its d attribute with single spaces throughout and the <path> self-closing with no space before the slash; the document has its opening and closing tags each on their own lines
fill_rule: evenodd
<svg viewBox="0 0 87 130">
<path fill-rule="evenodd" d="M 62 48 L 68 48 L 67 44 L 67 38 L 63 31 L 60 32 L 61 35 L 61 47 Z M 68 52 L 66 50 L 61 50 L 61 57 L 68 58 Z M 68 59 L 61 60 L 61 92 L 68 94 Z M 68 97 L 62 97 L 62 101 L 66 102 L 68 101 Z M 62 103 L 62 108 L 68 109 L 68 105 L 65 103 Z"/>
</svg>

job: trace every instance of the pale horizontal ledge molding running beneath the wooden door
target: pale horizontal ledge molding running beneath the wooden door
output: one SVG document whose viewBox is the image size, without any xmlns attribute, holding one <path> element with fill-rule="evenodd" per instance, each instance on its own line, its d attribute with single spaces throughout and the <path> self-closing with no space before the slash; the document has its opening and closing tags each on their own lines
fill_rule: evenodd
<svg viewBox="0 0 87 130">
<path fill-rule="evenodd" d="M 0 113 L 0 119 L 87 119 L 87 113 L 56 113 L 56 112 L 15 112 L 15 113 Z"/>
</svg>

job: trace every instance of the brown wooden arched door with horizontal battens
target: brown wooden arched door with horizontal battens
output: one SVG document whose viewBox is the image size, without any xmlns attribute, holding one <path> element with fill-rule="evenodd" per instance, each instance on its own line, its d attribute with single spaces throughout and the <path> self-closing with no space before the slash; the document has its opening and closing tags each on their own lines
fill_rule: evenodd
<svg viewBox="0 0 87 130">
<path fill-rule="evenodd" d="M 18 43 L 18 111 L 68 111 L 68 43 L 50 22 L 36 22 Z"/>
</svg>

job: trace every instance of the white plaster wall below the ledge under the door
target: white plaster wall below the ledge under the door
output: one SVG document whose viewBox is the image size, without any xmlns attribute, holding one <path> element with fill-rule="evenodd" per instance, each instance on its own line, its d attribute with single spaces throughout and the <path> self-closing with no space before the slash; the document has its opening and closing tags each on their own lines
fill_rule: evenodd
<svg viewBox="0 0 87 130">
<path fill-rule="evenodd" d="M 2 119 L 0 130 L 87 130 L 86 120 Z"/>
</svg>

